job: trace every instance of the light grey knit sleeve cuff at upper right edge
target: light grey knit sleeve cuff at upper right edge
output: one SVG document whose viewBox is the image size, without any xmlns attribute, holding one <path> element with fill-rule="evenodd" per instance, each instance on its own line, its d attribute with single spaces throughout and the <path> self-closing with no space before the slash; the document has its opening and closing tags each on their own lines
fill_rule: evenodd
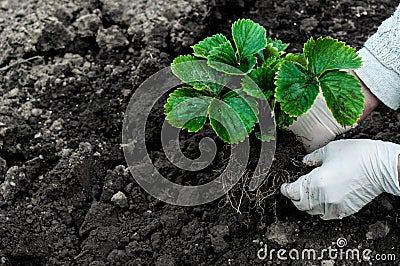
<svg viewBox="0 0 400 266">
<path fill-rule="evenodd" d="M 357 76 L 392 109 L 400 107 L 400 6 L 359 51 L 363 66 Z"/>
</svg>

